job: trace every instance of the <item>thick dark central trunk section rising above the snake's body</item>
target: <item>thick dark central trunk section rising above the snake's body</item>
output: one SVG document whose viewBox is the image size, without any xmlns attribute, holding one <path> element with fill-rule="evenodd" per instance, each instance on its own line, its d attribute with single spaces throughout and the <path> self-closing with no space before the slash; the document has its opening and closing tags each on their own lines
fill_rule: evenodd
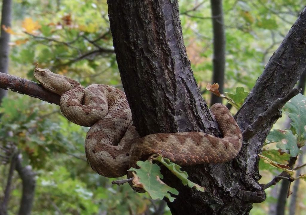
<svg viewBox="0 0 306 215">
<path fill-rule="evenodd" d="M 217 125 L 191 72 L 177 4 L 108 1 L 108 5 L 121 79 L 139 134 L 215 131 Z"/>
</svg>

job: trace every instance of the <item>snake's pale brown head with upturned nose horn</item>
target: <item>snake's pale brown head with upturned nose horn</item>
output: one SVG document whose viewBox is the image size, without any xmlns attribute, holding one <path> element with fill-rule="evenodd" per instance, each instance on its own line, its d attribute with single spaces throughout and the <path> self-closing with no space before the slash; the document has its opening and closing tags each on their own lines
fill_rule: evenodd
<svg viewBox="0 0 306 215">
<path fill-rule="evenodd" d="M 71 86 L 75 82 L 65 76 L 55 74 L 49 69 L 38 68 L 37 65 L 34 69 L 34 77 L 41 85 L 43 85 L 44 88 L 58 95 L 62 95 L 66 91 L 70 90 Z"/>
</svg>

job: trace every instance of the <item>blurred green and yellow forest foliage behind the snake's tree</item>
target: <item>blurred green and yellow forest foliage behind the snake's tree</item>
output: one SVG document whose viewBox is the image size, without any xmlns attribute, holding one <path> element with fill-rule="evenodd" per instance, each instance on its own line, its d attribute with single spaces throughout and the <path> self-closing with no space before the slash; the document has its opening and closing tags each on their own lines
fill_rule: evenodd
<svg viewBox="0 0 306 215">
<path fill-rule="evenodd" d="M 211 93 L 205 87 L 213 83 L 214 50 L 211 2 L 179 1 L 188 57 L 208 103 Z M 304 3 L 223 1 L 224 91 L 252 89 Z M 2 10 L 2 15 L 6 12 Z M 13 0 L 10 16 L 11 27 L 2 25 L 1 29 L 10 35 L 9 74 L 34 80 L 33 69 L 39 63 L 40 68 L 69 76 L 84 86 L 103 83 L 122 89 L 106 0 Z M 218 38 L 215 41 L 218 43 Z M 113 179 L 93 172 L 84 153 L 88 128 L 66 120 L 58 106 L 8 91 L 0 110 L 0 214 L 171 214 L 165 202 L 138 194 L 127 184 L 111 185 Z M 283 115 L 274 127 L 288 127 Z M 302 158 L 300 155 L 300 164 Z M 288 156 L 279 160 L 286 159 Z M 263 162 L 259 168 L 261 183 L 280 172 Z M 281 192 L 283 186 L 285 192 Z M 254 204 L 250 214 L 303 214 L 305 181 L 291 184 L 293 195 L 288 199 L 287 189 L 288 183 L 268 188 L 267 200 Z M 280 206 L 285 210 L 278 209 Z"/>
</svg>

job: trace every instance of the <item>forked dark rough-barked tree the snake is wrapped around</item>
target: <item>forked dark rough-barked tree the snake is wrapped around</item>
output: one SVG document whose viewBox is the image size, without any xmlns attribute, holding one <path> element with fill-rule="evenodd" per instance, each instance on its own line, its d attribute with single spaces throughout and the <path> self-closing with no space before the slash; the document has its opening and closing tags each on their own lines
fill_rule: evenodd
<svg viewBox="0 0 306 215">
<path fill-rule="evenodd" d="M 177 1 L 109 0 L 108 5 L 118 67 L 140 135 L 203 130 L 219 136 L 192 75 Z M 265 200 L 258 184 L 257 154 L 280 115 L 273 102 L 289 93 L 306 66 L 305 28 L 306 9 L 236 114 L 245 130 L 237 158 L 184 168 L 206 192 L 189 189 L 165 172 L 165 182 L 180 192 L 174 202 L 168 202 L 173 214 L 248 214 L 252 202 Z M 271 105 L 274 114 L 258 117 Z M 259 123 L 252 124 L 255 120 Z"/>
</svg>

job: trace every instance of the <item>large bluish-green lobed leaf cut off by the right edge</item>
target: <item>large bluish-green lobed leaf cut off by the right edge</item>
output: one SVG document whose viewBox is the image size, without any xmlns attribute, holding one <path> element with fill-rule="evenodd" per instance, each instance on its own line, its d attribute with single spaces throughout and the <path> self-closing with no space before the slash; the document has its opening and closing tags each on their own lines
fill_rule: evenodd
<svg viewBox="0 0 306 215">
<path fill-rule="evenodd" d="M 284 106 L 285 113 L 292 120 L 291 126 L 301 142 L 306 139 L 306 96 L 298 94 L 291 98 Z"/>
</svg>

